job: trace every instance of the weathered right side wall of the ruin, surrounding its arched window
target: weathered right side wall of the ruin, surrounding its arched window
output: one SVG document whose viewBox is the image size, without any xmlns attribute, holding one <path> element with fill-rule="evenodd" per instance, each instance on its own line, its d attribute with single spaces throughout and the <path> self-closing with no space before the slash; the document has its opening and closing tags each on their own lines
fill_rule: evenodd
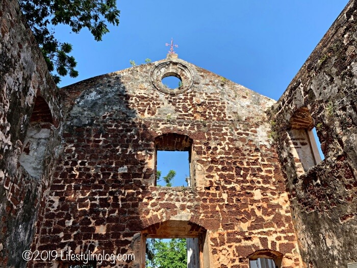
<svg viewBox="0 0 357 268">
<path fill-rule="evenodd" d="M 352 0 L 270 111 L 305 267 L 357 262 L 356 11 Z M 309 113 L 325 160 L 301 172 L 288 132 Z"/>
</svg>

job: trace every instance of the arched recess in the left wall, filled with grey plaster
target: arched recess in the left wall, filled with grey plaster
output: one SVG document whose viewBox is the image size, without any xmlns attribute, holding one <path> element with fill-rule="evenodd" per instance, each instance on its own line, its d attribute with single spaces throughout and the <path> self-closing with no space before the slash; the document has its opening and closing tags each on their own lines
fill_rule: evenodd
<svg viewBox="0 0 357 268">
<path fill-rule="evenodd" d="M 47 102 L 40 95 L 36 96 L 29 121 L 19 162 L 32 177 L 39 179 L 50 133 L 53 127 L 58 127 L 58 123 L 54 121 Z"/>
</svg>

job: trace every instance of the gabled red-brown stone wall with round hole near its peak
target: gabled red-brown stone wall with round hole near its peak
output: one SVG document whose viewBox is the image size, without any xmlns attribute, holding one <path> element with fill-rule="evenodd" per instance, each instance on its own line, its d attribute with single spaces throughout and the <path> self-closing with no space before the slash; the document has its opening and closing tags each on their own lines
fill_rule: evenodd
<svg viewBox="0 0 357 268">
<path fill-rule="evenodd" d="M 180 94 L 158 90 L 152 76 L 161 64 L 186 66 L 192 86 Z M 139 267 L 141 232 L 181 221 L 179 227 L 207 230 L 210 268 L 247 268 L 248 256 L 260 250 L 283 254 L 282 267 L 299 267 L 264 113 L 274 101 L 180 59 L 95 77 L 61 94 L 64 148 L 33 250 L 134 253 L 135 261 L 116 264 Z M 155 138 L 166 133 L 192 139 L 196 187 L 152 186 Z M 115 265 L 98 264 L 104 266 Z"/>
</svg>

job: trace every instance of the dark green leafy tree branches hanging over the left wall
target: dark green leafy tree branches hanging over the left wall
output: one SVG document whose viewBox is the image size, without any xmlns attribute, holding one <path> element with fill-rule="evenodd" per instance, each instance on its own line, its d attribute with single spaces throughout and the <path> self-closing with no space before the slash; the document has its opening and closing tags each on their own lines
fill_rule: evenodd
<svg viewBox="0 0 357 268">
<path fill-rule="evenodd" d="M 56 84 L 60 76 L 77 77 L 72 45 L 55 37 L 52 26 L 68 25 L 73 33 L 87 28 L 96 41 L 108 33 L 106 22 L 119 25 L 116 0 L 19 0 L 21 11 L 39 44 Z"/>
</svg>

